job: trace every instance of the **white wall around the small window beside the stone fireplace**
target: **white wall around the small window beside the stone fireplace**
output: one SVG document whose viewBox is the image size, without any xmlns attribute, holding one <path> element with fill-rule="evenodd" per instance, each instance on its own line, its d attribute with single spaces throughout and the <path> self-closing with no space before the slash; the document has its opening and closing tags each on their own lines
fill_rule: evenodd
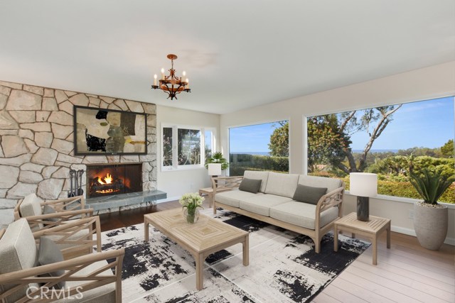
<svg viewBox="0 0 455 303">
<path fill-rule="evenodd" d="M 156 138 L 158 143 L 158 189 L 168 194 L 168 199 L 160 202 L 179 199 L 186 192 L 198 192 L 200 188 L 210 186 L 210 177 L 204 167 L 193 170 L 161 170 L 161 124 L 175 123 L 182 126 L 215 128 L 216 148 L 219 150 L 220 115 L 206 114 L 200 111 L 188 111 L 168 106 L 156 106 Z"/>
</svg>

